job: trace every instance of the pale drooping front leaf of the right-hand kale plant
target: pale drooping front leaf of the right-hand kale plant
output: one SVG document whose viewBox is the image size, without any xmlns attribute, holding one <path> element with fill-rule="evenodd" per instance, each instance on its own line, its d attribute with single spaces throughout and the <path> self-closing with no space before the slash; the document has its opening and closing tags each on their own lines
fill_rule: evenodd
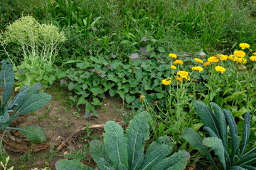
<svg viewBox="0 0 256 170">
<path fill-rule="evenodd" d="M 217 155 L 219 161 L 223 165 L 223 169 L 226 169 L 225 164 L 225 149 L 222 140 L 217 137 L 206 137 L 203 139 L 203 145 L 210 147 L 214 150 L 215 155 Z"/>
</svg>

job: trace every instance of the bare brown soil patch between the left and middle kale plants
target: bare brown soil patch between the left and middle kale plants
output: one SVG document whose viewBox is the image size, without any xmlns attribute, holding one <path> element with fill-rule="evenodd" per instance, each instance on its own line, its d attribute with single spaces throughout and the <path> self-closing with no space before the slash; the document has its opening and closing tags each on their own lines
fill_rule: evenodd
<svg viewBox="0 0 256 170">
<path fill-rule="evenodd" d="M 6 140 L 4 147 L 11 157 L 10 165 L 14 166 L 14 169 L 30 170 L 35 167 L 44 168 L 46 166 L 55 169 L 55 162 L 66 159 L 58 155 L 70 154 L 70 152 L 78 151 L 78 149 L 87 149 L 84 145 L 88 146 L 88 142 L 92 138 L 102 138 L 104 130 L 102 128 L 93 129 L 90 134 L 87 133 L 87 130 L 83 130 L 78 137 L 73 138 L 68 145 L 58 151 L 58 145 L 73 132 L 87 124 L 101 125 L 108 120 L 119 122 L 124 120 L 124 114 L 129 114 L 129 111 L 123 107 L 122 100 L 105 99 L 102 107 L 97 109 L 97 113 L 100 115 L 99 118 L 84 118 L 82 116 L 84 109 L 80 109 L 80 112 L 78 112 L 79 109 L 70 108 L 63 102 L 67 94 L 61 91 L 50 91 L 50 94 L 53 98 L 47 106 L 36 111 L 36 113 L 17 118 L 11 125 L 11 127 L 22 128 L 29 125 L 41 126 L 46 132 L 46 142 L 29 142 L 18 131 L 11 131 L 8 137 L 4 139 Z M 89 154 L 82 162 L 95 168 L 95 163 L 90 159 Z"/>
</svg>

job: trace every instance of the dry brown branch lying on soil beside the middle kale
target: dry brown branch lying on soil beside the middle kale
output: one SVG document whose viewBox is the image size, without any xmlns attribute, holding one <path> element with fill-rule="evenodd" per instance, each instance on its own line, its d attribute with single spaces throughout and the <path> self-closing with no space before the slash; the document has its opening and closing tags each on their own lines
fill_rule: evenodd
<svg viewBox="0 0 256 170">
<path fill-rule="evenodd" d="M 122 121 L 119 122 L 119 125 L 122 125 Z M 96 128 L 104 128 L 105 124 L 102 125 L 90 125 L 89 129 L 96 129 Z M 67 137 L 63 142 L 61 142 L 60 145 L 58 145 L 57 149 L 60 151 L 61 149 L 63 149 L 63 147 L 67 146 L 68 143 L 70 143 L 75 137 L 78 137 L 78 135 L 83 131 L 86 130 L 87 127 L 83 127 L 78 129 L 77 131 L 73 132 L 73 134 L 71 134 L 69 137 Z"/>
</svg>

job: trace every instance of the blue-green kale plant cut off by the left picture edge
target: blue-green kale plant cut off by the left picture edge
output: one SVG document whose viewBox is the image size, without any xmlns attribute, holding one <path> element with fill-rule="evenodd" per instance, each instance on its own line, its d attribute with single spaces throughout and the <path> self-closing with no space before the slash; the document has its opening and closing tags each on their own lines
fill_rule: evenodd
<svg viewBox="0 0 256 170">
<path fill-rule="evenodd" d="M 12 88 L 14 86 L 14 72 L 12 64 L 7 60 L 3 60 L 0 72 L 0 87 L 4 88 L 0 98 L 0 130 L 4 134 L 0 141 L 0 152 L 2 154 L 2 140 L 8 130 L 19 130 L 29 140 L 43 142 L 46 140 L 46 134 L 41 127 L 28 126 L 26 128 L 10 127 L 11 122 L 20 115 L 37 111 L 46 105 L 51 99 L 49 94 L 39 92 L 41 84 L 37 83 L 28 89 L 28 86 L 23 86 L 21 91 L 11 100 Z"/>
</svg>

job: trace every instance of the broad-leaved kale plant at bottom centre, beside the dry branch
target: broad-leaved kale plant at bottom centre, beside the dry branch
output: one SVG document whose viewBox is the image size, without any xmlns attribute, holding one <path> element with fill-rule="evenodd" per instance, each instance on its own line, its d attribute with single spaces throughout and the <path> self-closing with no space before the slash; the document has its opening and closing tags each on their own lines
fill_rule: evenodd
<svg viewBox="0 0 256 170">
<path fill-rule="evenodd" d="M 90 154 L 99 169 L 184 169 L 188 152 L 179 151 L 167 157 L 173 148 L 169 137 L 159 137 L 152 142 L 146 154 L 144 147 L 149 139 L 149 117 L 139 113 L 124 132 L 122 127 L 109 121 L 105 125 L 104 144 L 90 142 Z"/>
</svg>

